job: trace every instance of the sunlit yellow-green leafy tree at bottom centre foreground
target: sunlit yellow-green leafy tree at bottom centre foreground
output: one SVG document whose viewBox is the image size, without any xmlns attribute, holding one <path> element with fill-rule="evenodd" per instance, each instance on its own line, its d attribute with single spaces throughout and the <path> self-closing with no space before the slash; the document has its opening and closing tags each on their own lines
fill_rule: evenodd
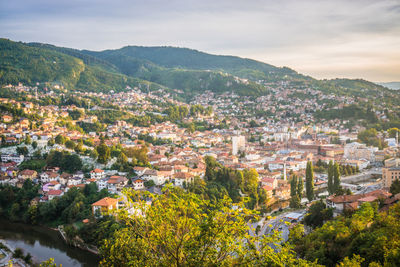
<svg viewBox="0 0 400 267">
<path fill-rule="evenodd" d="M 212 204 L 172 187 L 159 196 L 125 195 L 129 204 L 118 218 L 127 227 L 105 240 L 103 266 L 317 266 L 296 258 L 277 233 L 250 235 L 255 214 L 243 203 Z"/>
</svg>

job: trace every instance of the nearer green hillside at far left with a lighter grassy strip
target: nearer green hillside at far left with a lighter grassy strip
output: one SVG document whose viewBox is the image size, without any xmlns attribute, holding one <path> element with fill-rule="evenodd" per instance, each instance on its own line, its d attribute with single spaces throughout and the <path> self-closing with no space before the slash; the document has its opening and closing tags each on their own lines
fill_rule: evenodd
<svg viewBox="0 0 400 267">
<path fill-rule="evenodd" d="M 68 89 L 120 91 L 126 86 L 149 84 L 117 73 L 112 64 L 78 50 L 0 39 L 0 84 L 56 82 Z M 151 84 L 157 89 L 159 85 Z"/>
</svg>

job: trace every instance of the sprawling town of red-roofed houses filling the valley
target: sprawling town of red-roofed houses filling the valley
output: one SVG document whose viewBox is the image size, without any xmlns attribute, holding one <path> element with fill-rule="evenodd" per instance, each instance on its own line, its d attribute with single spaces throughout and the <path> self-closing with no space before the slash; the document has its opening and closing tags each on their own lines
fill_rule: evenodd
<svg viewBox="0 0 400 267">
<path fill-rule="evenodd" d="M 58 84 L 19 84 L 3 90 L 12 97 L 0 98 L 0 186 L 23 188 L 27 180 L 38 185 L 30 206 L 93 185 L 107 192 L 91 203 L 93 218 L 99 218 L 129 205 L 126 189 L 162 194 L 165 186 L 190 190 L 204 183 L 207 159 L 229 170 L 255 171 L 257 192 L 264 197 L 251 206 L 263 215 L 253 224 L 253 235 L 278 230 L 287 241 L 295 224 L 285 222 L 301 221 L 312 199 L 323 200 L 334 216 L 364 202 L 383 201 L 382 209 L 388 209 L 400 199 L 399 192 L 389 192 L 400 178 L 397 128 L 382 135 L 361 124 L 348 127 L 346 120 L 315 117 L 332 103 L 344 108 L 360 99 L 296 91 L 287 84 L 258 98 L 205 92 L 190 104 L 162 90 L 140 88 L 66 93 Z M 304 101 L 305 94 L 314 98 Z M 385 120 L 384 106 L 375 108 L 373 115 Z M 375 146 L 363 142 L 371 131 Z M 301 189 L 294 201 L 293 180 L 306 182 L 309 163 L 315 198 L 307 199 Z M 332 164 L 340 192 L 329 185 Z M 18 216 L 18 210 L 12 212 Z"/>
</svg>

